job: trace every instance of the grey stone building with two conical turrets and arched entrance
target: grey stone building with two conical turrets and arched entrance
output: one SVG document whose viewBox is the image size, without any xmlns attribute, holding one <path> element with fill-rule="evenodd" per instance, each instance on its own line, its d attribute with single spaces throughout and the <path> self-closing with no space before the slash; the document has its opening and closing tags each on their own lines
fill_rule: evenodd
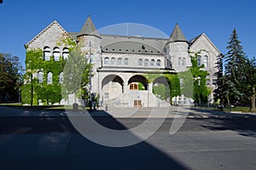
<svg viewBox="0 0 256 170">
<path fill-rule="evenodd" d="M 205 33 L 189 41 L 176 24 L 169 38 L 106 35 L 96 31 L 89 16 L 79 32 L 66 31 L 57 21 L 53 21 L 26 43 L 26 50 L 36 48 L 44 50 L 45 62 L 50 58 L 56 61 L 60 58 L 67 59 L 68 48 L 65 45 L 57 45 L 63 36 L 72 37 L 77 43 L 82 42 L 83 50 L 90 51 L 90 61 L 93 64 L 91 93 L 98 94 L 99 101 L 103 105 L 117 107 L 169 105 L 169 102 L 153 93 L 154 85 L 160 83 L 161 78 L 149 82 L 146 76 L 186 71 L 191 65 L 190 52 L 201 51 L 198 65 L 205 65 L 204 70 L 209 72 L 207 86 L 214 88 L 212 79 L 220 52 Z M 43 77 L 38 70 L 33 73 L 33 77 L 38 77 L 38 83 L 43 82 L 43 79 L 50 83 L 51 74 L 48 73 L 47 77 Z M 61 73 L 59 76 L 62 77 Z M 71 104 L 73 102 L 71 100 L 66 102 Z M 191 105 L 193 101 L 181 95 L 175 97 L 173 102 L 178 105 Z"/>
</svg>

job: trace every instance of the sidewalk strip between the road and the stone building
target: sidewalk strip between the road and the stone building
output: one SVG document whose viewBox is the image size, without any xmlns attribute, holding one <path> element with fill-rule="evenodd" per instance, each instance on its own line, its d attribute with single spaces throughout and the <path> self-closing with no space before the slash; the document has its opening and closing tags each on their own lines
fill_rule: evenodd
<svg viewBox="0 0 256 170">
<path fill-rule="evenodd" d="M 67 114 L 69 113 L 69 114 Z M 151 115 L 152 114 L 152 115 Z M 112 116 L 115 118 L 232 118 L 232 117 L 245 117 L 256 116 L 253 113 L 241 112 L 223 112 L 207 109 L 199 109 L 193 107 L 177 107 L 172 106 L 169 108 L 109 108 L 108 112 L 103 110 L 96 111 L 36 111 L 36 110 L 23 110 L 9 106 L 0 106 L 1 116 Z"/>
</svg>

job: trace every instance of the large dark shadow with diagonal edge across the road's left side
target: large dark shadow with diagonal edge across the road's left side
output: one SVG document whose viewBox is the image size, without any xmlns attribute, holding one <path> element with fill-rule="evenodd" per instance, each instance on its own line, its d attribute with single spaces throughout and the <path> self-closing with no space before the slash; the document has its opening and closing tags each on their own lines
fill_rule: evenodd
<svg viewBox="0 0 256 170">
<path fill-rule="evenodd" d="M 127 129 L 112 116 L 93 118 Z M 93 143 L 67 117 L 0 117 L 0 150 L 1 169 L 187 169 L 146 141 L 120 148 Z"/>
</svg>

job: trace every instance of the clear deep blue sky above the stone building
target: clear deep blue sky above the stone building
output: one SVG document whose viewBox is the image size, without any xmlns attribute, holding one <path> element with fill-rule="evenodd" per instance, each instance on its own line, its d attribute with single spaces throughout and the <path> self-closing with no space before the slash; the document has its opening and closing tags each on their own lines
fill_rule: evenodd
<svg viewBox="0 0 256 170">
<path fill-rule="evenodd" d="M 90 14 L 96 28 L 139 23 L 172 33 L 178 23 L 188 40 L 205 32 L 225 54 L 230 34 L 238 32 L 244 52 L 256 56 L 256 1 L 98 1 L 3 0 L 0 5 L 0 53 L 20 57 L 24 66 L 26 42 L 53 20 L 66 31 L 79 31 Z"/>
</svg>

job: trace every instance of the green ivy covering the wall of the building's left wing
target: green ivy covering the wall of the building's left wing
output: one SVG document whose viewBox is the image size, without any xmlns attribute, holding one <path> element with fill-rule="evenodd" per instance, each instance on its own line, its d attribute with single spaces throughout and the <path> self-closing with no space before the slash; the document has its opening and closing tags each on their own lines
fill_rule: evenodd
<svg viewBox="0 0 256 170">
<path fill-rule="evenodd" d="M 30 49 L 26 51 L 26 74 L 23 79 L 25 84 L 21 88 L 22 104 L 38 105 L 38 99 L 44 105 L 53 105 L 61 101 L 61 84 L 59 83 L 59 75 L 63 71 L 66 60 L 60 57 L 59 61 L 55 61 L 53 56 L 49 61 L 44 60 L 44 52 L 42 49 Z M 38 83 L 37 77 L 32 74 L 43 71 L 43 82 Z M 52 83 L 47 83 L 47 74 L 52 72 Z M 32 81 L 31 81 L 32 80 Z"/>
</svg>

